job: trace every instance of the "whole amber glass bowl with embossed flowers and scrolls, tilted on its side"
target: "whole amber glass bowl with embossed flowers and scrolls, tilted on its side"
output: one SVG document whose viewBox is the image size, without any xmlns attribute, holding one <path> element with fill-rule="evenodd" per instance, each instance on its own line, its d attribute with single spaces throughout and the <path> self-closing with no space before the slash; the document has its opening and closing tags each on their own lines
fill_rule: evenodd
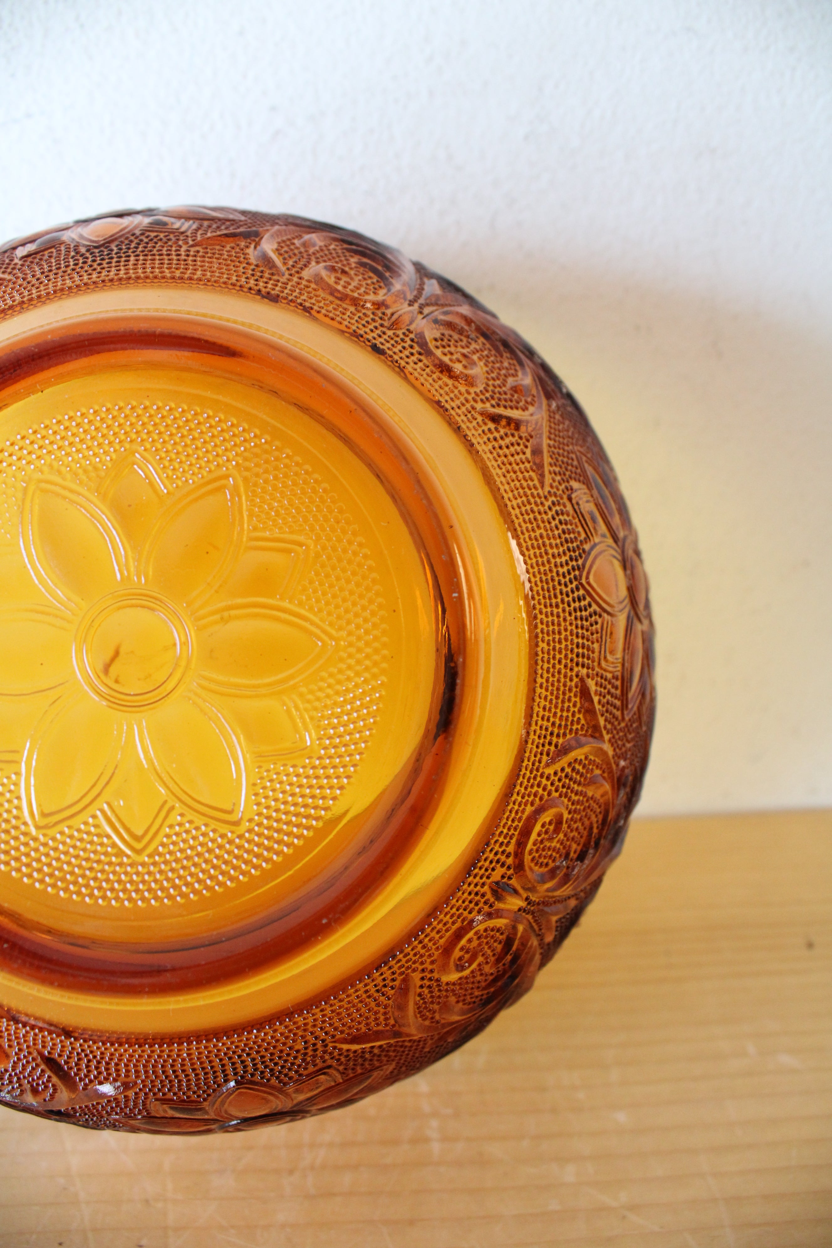
<svg viewBox="0 0 832 1248">
<path fill-rule="evenodd" d="M 360 235 L 125 212 L 0 250 L 0 1099 L 241 1131 L 511 1005 L 654 714 L 581 409 Z"/>
</svg>

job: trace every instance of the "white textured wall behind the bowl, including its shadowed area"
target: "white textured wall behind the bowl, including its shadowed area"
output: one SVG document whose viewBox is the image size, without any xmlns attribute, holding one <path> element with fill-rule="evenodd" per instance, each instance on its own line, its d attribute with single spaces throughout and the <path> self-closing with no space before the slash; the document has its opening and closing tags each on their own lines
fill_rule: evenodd
<svg viewBox="0 0 832 1248">
<path fill-rule="evenodd" d="M 586 406 L 659 626 L 645 812 L 832 804 L 828 0 L 0 0 L 0 236 L 352 226 Z"/>
</svg>

